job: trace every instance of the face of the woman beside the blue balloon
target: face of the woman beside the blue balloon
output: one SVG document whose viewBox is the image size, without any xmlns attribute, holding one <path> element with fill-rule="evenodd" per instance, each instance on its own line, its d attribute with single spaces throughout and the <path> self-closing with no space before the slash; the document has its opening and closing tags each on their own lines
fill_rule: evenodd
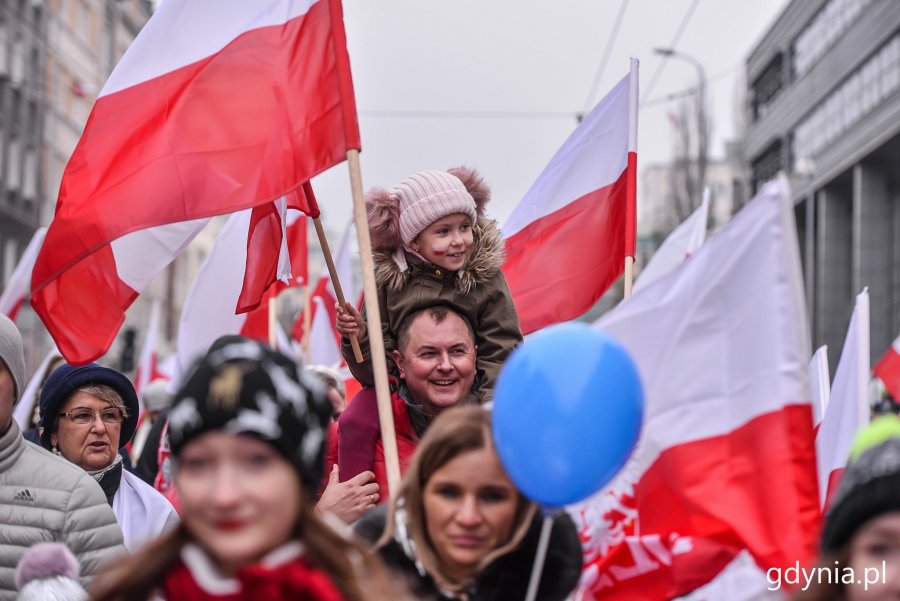
<svg viewBox="0 0 900 601">
<path fill-rule="evenodd" d="M 509 540 L 519 496 L 493 449 L 467 451 L 436 470 L 422 495 L 435 553 L 456 580 Z"/>
</svg>

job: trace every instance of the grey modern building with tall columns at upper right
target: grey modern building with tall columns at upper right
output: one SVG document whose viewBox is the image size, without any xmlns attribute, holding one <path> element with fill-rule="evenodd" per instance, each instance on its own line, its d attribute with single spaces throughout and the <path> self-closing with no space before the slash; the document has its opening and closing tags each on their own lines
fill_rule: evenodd
<svg viewBox="0 0 900 601">
<path fill-rule="evenodd" d="M 868 287 L 874 362 L 900 332 L 900 2 L 793 0 L 747 81 L 751 187 L 791 179 L 812 342 L 833 372 Z"/>
</svg>

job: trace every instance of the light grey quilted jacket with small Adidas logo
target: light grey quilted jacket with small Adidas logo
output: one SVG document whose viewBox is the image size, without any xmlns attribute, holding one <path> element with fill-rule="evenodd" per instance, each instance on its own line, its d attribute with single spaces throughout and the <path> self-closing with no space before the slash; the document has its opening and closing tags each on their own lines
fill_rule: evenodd
<svg viewBox="0 0 900 601">
<path fill-rule="evenodd" d="M 86 586 L 125 553 L 106 496 L 80 467 L 26 442 L 15 420 L 0 436 L 0 600 L 15 599 L 16 564 L 35 543 L 62 542 Z"/>
</svg>

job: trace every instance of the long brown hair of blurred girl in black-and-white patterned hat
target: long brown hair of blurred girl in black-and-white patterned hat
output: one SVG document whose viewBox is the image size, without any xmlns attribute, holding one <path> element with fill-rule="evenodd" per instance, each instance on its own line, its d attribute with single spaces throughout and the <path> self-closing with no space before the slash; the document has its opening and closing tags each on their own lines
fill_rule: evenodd
<svg viewBox="0 0 900 601">
<path fill-rule="evenodd" d="M 389 580 L 380 559 L 353 539 L 345 538 L 316 513 L 301 487 L 300 515 L 293 538 L 303 542 L 304 558 L 321 569 L 347 601 L 394 600 L 402 589 Z M 124 558 L 98 576 L 91 588 L 94 601 L 147 601 L 161 588 L 166 574 L 180 561 L 181 549 L 194 541 L 185 525 L 162 535 L 137 554 Z"/>
</svg>

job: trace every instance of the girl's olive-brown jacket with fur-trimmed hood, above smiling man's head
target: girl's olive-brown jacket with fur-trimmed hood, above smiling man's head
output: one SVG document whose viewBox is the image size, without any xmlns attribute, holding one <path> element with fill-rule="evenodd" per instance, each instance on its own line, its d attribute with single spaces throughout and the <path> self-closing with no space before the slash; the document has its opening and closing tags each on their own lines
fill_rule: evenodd
<svg viewBox="0 0 900 601">
<path fill-rule="evenodd" d="M 403 319 L 432 305 L 445 305 L 464 315 L 475 331 L 478 345 L 477 382 L 482 402 L 492 396 L 500 366 L 522 341 L 519 317 L 500 268 L 503 266 L 503 239 L 496 222 L 480 218 L 473 228 L 472 253 L 459 271 L 447 271 L 406 253 L 409 269 L 401 271 L 391 253 L 373 252 L 378 307 L 389 370 L 394 369 L 391 351 L 397 347 L 397 330 Z M 353 376 L 363 386 L 375 379 L 365 336 L 359 341 L 364 361 L 353 358 L 350 341 L 344 338 L 341 351 Z"/>
</svg>

